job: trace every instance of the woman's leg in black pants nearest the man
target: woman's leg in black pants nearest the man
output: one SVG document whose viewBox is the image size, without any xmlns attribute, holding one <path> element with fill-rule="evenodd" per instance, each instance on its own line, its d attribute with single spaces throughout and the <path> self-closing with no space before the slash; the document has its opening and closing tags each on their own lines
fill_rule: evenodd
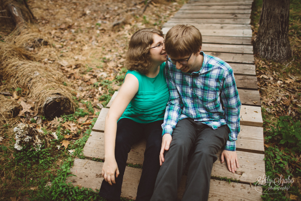
<svg viewBox="0 0 301 201">
<path fill-rule="evenodd" d="M 160 169 L 160 149 L 162 143 L 163 120 L 145 125 L 146 148 L 136 201 L 149 201 L 154 191 L 156 177 Z"/>
</svg>

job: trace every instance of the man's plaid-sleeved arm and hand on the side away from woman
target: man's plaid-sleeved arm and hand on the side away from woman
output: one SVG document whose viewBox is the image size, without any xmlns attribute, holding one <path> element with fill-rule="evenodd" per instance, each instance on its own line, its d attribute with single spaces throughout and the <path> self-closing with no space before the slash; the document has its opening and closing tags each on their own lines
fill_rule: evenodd
<svg viewBox="0 0 301 201">
<path fill-rule="evenodd" d="M 230 129 L 229 138 L 221 154 L 221 163 L 224 162 L 225 158 L 228 170 L 234 173 L 236 167 L 239 168 L 235 141 L 237 140 L 237 135 L 240 131 L 239 111 L 241 103 L 232 69 L 224 80 L 221 99 L 225 107 L 225 120 Z"/>
</svg>

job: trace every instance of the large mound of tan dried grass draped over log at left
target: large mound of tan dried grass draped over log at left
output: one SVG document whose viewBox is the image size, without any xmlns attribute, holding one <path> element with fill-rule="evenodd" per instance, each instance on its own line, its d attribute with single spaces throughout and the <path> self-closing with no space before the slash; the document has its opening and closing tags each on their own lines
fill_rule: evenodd
<svg viewBox="0 0 301 201">
<path fill-rule="evenodd" d="M 16 30 L 5 38 L 5 42 L 0 43 L 2 79 L 14 89 L 21 87 L 27 91 L 26 99 L 36 100 L 35 111 L 42 112 L 46 98 L 56 94 L 67 97 L 74 110 L 76 104 L 72 97 L 76 90 L 55 64 L 43 62 L 51 57 L 56 60 L 57 56 L 47 43 L 43 46 L 45 44 L 38 42 L 38 39 L 44 38 L 37 32 L 31 27 L 18 35 Z M 32 47 L 34 51 L 26 50 Z"/>
</svg>

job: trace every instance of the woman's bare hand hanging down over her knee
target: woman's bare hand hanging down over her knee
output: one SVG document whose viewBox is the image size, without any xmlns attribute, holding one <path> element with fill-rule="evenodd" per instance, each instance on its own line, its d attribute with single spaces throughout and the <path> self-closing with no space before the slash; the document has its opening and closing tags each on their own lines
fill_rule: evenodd
<svg viewBox="0 0 301 201">
<path fill-rule="evenodd" d="M 107 181 L 111 186 L 112 183 L 115 184 L 115 173 L 117 178 L 119 175 L 119 170 L 115 158 L 105 159 L 101 174 L 104 177 L 104 180 Z"/>
</svg>

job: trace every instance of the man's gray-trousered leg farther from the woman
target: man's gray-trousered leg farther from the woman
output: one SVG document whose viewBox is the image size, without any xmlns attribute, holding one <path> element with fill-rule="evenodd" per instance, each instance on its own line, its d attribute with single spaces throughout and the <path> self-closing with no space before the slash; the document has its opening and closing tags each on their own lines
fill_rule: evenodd
<svg viewBox="0 0 301 201">
<path fill-rule="evenodd" d="M 217 160 L 216 153 L 228 139 L 227 125 L 213 130 L 205 124 L 197 124 L 198 134 L 190 160 L 183 201 L 208 200 L 212 166 Z"/>
</svg>

